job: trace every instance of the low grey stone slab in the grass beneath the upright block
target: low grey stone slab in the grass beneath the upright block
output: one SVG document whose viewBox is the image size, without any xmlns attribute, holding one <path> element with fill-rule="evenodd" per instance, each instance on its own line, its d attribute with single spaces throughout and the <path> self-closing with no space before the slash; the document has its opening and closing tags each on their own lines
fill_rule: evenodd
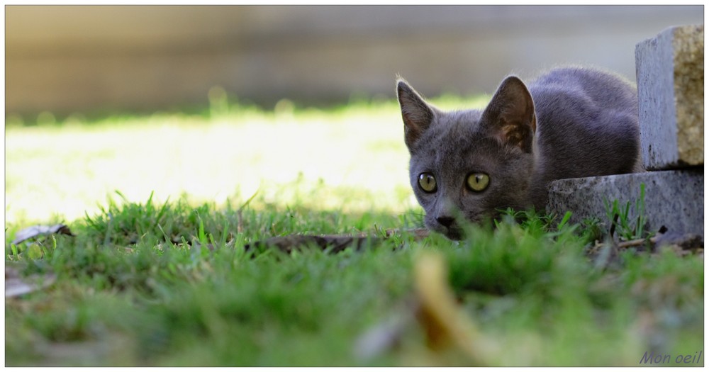
<svg viewBox="0 0 709 372">
<path fill-rule="evenodd" d="M 702 169 L 652 171 L 615 176 L 561 179 L 549 184 L 547 212 L 564 215 L 571 222 L 596 217 L 610 227 L 603 200 L 619 205 L 630 202 L 630 215 L 637 219 L 635 201 L 645 184 L 645 217 L 651 231 L 661 226 L 668 232 L 691 233 L 704 237 L 704 172 Z"/>
</svg>

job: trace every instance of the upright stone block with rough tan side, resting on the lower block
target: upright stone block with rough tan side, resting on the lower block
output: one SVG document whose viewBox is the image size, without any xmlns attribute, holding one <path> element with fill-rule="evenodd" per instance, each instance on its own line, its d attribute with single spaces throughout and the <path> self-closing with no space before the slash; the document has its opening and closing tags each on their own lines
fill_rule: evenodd
<svg viewBox="0 0 709 372">
<path fill-rule="evenodd" d="M 704 25 L 638 43 L 635 76 L 645 168 L 704 164 Z"/>
</svg>

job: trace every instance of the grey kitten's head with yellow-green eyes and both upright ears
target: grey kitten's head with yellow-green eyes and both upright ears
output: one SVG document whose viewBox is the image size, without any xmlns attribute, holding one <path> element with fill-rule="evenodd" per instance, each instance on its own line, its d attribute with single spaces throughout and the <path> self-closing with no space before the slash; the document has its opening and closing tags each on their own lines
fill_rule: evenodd
<svg viewBox="0 0 709 372">
<path fill-rule="evenodd" d="M 403 79 L 396 91 L 411 186 L 426 227 L 458 240 L 464 220 L 481 222 L 499 209 L 525 208 L 536 117 L 520 79 L 505 79 L 483 111 L 441 111 Z"/>
</svg>

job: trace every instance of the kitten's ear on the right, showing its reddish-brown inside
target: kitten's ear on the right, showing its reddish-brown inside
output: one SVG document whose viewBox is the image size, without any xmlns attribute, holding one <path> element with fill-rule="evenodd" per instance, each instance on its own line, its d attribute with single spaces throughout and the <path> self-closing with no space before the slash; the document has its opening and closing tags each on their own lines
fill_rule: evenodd
<svg viewBox="0 0 709 372">
<path fill-rule="evenodd" d="M 502 143 L 531 153 L 537 117 L 532 95 L 523 81 L 514 76 L 502 81 L 480 123 Z"/>
</svg>

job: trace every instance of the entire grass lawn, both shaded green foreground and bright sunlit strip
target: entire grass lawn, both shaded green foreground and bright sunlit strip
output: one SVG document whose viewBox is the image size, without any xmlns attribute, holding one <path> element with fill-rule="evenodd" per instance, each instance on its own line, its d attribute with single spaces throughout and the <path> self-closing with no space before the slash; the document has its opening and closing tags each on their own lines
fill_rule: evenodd
<svg viewBox="0 0 709 372">
<path fill-rule="evenodd" d="M 683 365 L 703 350 L 698 254 L 607 262 L 586 254 L 605 234 L 592 223 L 534 213 L 463 242 L 384 239 L 423 213 L 393 101 L 262 111 L 217 95 L 202 113 L 64 121 L 6 128 L 6 281 L 35 288 L 6 297 L 6 366 Z M 10 243 L 58 222 L 74 236 Z M 381 239 L 244 249 L 359 232 Z"/>
</svg>

